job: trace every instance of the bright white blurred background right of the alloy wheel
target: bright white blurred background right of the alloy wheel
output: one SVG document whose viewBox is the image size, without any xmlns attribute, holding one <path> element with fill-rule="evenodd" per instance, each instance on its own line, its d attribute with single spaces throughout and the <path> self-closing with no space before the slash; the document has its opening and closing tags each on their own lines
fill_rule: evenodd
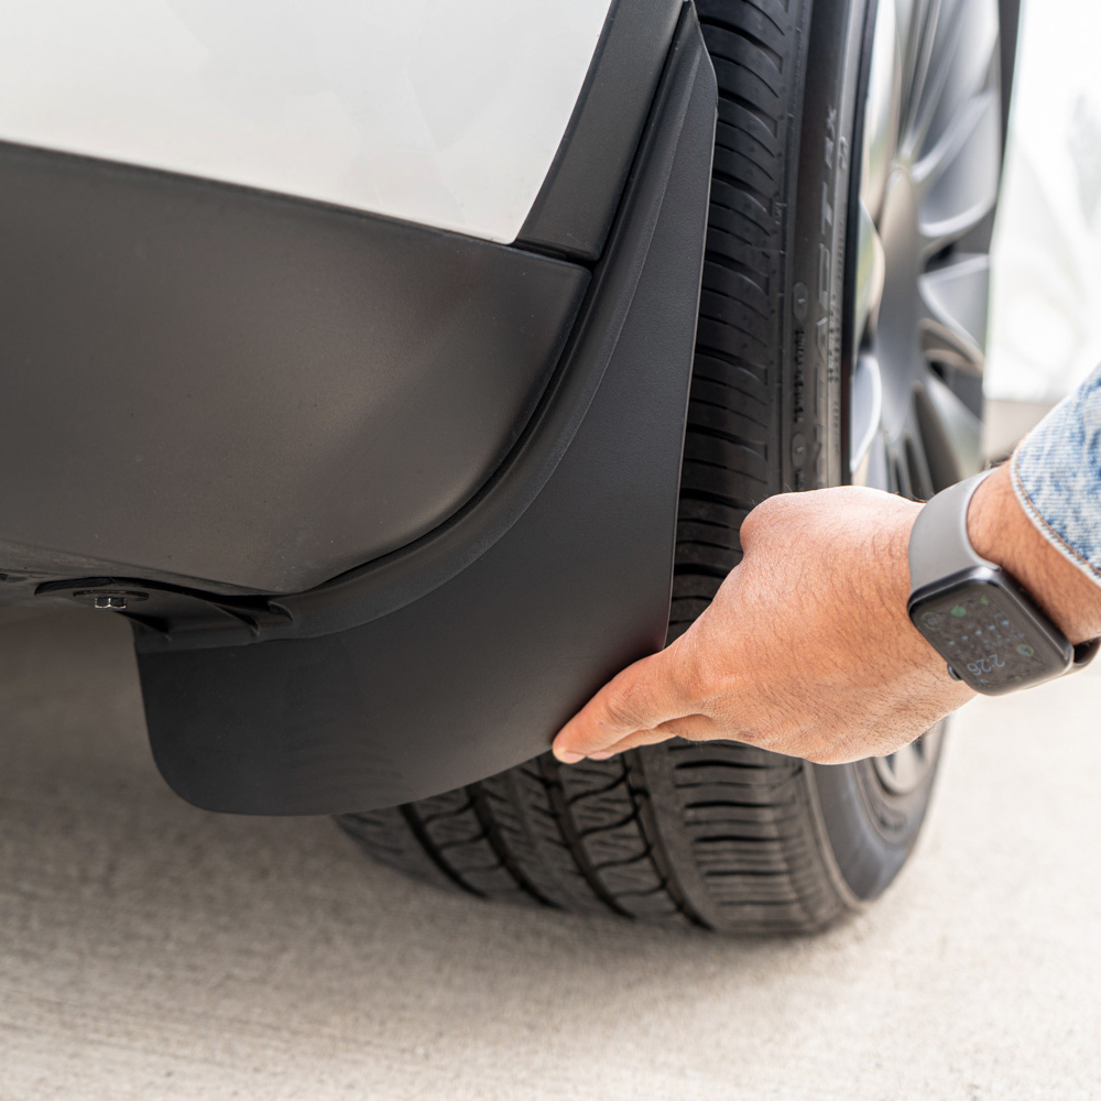
<svg viewBox="0 0 1101 1101">
<path fill-rule="evenodd" d="M 1099 70 L 1099 0 L 1024 0 L 988 397 L 1055 402 L 1101 362 Z"/>
</svg>

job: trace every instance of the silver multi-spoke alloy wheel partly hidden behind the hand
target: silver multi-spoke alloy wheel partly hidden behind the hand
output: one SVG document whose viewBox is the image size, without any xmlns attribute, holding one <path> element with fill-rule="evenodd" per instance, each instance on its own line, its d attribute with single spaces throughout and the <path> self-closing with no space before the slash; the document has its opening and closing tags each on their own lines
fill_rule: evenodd
<svg viewBox="0 0 1101 1101">
<path fill-rule="evenodd" d="M 880 0 L 849 204 L 851 480 L 927 500 L 981 467 L 990 221 L 1002 167 L 996 0 Z M 873 762 L 893 794 L 944 723 Z"/>
</svg>

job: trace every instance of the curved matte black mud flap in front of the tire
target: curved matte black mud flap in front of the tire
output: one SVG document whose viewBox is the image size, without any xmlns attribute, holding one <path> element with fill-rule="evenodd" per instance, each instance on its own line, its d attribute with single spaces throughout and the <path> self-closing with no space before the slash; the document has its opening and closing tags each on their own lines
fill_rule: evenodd
<svg viewBox="0 0 1101 1101">
<path fill-rule="evenodd" d="M 460 517 L 281 601 L 290 624 L 251 644 L 135 624 L 153 754 L 184 798 L 331 814 L 456 787 L 542 752 L 662 645 L 716 102 L 689 7 L 566 362 Z"/>
</svg>

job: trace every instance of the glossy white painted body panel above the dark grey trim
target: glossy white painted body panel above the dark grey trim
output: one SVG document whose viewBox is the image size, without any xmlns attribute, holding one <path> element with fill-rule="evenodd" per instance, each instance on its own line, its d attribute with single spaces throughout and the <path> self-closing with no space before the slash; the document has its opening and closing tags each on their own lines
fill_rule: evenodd
<svg viewBox="0 0 1101 1101">
<path fill-rule="evenodd" d="M 0 0 L 0 140 L 494 241 L 610 0 Z"/>
</svg>

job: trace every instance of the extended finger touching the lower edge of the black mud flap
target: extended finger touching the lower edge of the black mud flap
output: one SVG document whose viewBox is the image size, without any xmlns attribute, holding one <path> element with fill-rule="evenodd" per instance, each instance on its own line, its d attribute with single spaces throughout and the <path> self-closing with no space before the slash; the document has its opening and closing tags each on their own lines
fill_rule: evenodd
<svg viewBox="0 0 1101 1101">
<path fill-rule="evenodd" d="M 553 746 L 558 760 L 573 764 L 636 730 L 653 730 L 699 710 L 689 698 L 688 648 L 682 636 L 604 685 L 558 732 Z"/>
</svg>

